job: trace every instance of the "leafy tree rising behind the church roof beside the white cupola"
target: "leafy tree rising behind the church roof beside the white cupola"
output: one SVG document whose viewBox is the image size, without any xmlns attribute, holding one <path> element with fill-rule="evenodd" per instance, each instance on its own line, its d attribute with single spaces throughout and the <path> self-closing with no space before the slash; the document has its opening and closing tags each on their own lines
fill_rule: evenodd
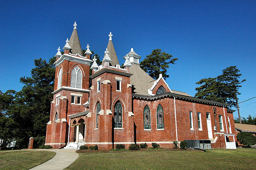
<svg viewBox="0 0 256 170">
<path fill-rule="evenodd" d="M 178 60 L 178 58 L 171 59 L 172 57 L 168 53 L 161 52 L 161 49 L 156 49 L 140 62 L 140 67 L 153 79 L 157 79 L 162 74 L 164 80 L 166 80 L 169 77 L 169 75 L 166 75 L 169 64 L 174 64 Z"/>
</svg>

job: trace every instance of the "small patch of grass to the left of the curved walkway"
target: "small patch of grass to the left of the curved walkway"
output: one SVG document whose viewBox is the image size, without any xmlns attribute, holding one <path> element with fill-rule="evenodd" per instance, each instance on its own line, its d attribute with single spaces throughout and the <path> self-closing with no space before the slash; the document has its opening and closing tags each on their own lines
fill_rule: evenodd
<svg viewBox="0 0 256 170">
<path fill-rule="evenodd" d="M 55 156 L 50 151 L 0 152 L 0 169 L 30 169 Z"/>
</svg>

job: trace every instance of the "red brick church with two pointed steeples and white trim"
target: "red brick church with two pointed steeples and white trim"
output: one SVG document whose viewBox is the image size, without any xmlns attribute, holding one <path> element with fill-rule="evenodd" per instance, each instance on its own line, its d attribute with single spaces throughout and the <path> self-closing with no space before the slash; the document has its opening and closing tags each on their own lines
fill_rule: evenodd
<svg viewBox="0 0 256 170">
<path fill-rule="evenodd" d="M 60 48 L 56 54 L 46 145 L 77 149 L 97 144 L 99 149 L 112 149 L 116 144 L 127 148 L 132 143 L 156 142 L 172 148 L 173 141 L 188 140 L 192 148 L 195 143 L 236 148 L 228 104 L 172 90 L 162 75 L 154 80 L 140 68 L 141 56 L 133 48 L 123 57 L 121 68 L 111 33 L 102 64 L 97 65 L 96 59 L 90 60 L 89 45 L 82 53 L 76 26 L 64 54 Z"/>
</svg>

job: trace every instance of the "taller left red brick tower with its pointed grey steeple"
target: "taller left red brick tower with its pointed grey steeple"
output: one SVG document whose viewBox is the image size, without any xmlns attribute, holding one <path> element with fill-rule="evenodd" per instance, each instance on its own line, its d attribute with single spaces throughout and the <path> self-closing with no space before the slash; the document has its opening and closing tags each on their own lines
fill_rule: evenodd
<svg viewBox="0 0 256 170">
<path fill-rule="evenodd" d="M 89 71 L 93 61 L 90 60 L 89 45 L 84 56 L 82 54 L 76 26 L 75 22 L 70 41 L 67 39 L 63 47 L 64 54 L 61 55 L 58 48 L 55 55 L 53 101 L 45 143 L 54 149 L 64 147 L 69 141 L 78 141 L 76 134 L 82 134 L 84 138 L 84 119 L 71 122 L 70 115 L 85 111 L 83 104 L 89 99 Z"/>
</svg>

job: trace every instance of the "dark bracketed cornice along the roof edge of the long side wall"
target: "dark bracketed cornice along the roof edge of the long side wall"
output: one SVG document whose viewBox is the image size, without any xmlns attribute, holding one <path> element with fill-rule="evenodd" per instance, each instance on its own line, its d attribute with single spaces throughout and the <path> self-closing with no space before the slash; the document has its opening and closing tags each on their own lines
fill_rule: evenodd
<svg viewBox="0 0 256 170">
<path fill-rule="evenodd" d="M 208 104 L 208 105 L 214 105 L 214 106 L 224 106 L 224 107 L 229 106 L 229 104 L 226 104 L 226 103 L 220 103 L 220 102 L 208 101 L 208 100 L 204 100 L 204 99 L 198 99 L 198 98 L 194 98 L 192 96 L 175 94 L 175 93 L 172 93 L 172 92 L 166 92 L 166 93 L 162 93 L 162 94 L 154 95 L 154 96 L 132 94 L 132 97 L 134 99 L 148 100 L 148 101 L 155 101 L 155 100 L 164 99 L 164 98 L 174 98 L 174 97 L 176 97 L 176 99 L 186 100 L 188 102 L 197 102 L 197 103 L 202 103 L 202 104 Z"/>
</svg>

